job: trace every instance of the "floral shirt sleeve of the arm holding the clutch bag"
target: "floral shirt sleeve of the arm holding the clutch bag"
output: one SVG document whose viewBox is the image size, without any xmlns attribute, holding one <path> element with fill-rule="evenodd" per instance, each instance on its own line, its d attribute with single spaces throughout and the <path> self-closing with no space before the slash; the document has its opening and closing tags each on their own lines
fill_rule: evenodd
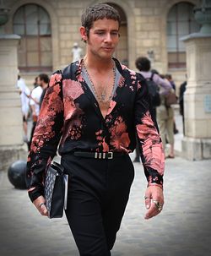
<svg viewBox="0 0 211 256">
<path fill-rule="evenodd" d="M 62 74 L 57 71 L 51 75 L 28 155 L 26 184 L 31 202 L 44 195 L 46 166 L 56 155 L 62 126 Z"/>
</svg>

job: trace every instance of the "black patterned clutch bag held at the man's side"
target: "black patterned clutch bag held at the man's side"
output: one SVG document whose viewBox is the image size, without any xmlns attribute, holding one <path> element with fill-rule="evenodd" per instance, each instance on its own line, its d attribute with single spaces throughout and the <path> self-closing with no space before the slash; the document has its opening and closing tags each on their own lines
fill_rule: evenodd
<svg viewBox="0 0 211 256">
<path fill-rule="evenodd" d="M 55 161 L 46 170 L 44 197 L 50 219 L 62 218 L 63 210 L 67 209 L 68 174 L 63 171 L 63 166 Z"/>
</svg>

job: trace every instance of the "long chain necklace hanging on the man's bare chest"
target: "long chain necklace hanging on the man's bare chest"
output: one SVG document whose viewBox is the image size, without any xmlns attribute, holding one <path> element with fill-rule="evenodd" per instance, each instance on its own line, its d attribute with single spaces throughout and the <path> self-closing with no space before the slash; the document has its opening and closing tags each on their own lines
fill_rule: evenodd
<svg viewBox="0 0 211 256">
<path fill-rule="evenodd" d="M 84 60 L 85 60 L 85 59 L 86 59 L 86 57 L 84 57 Z M 108 99 L 106 100 L 106 89 L 107 89 L 107 87 L 108 87 L 108 83 L 106 84 L 106 87 L 104 88 L 104 90 L 101 91 L 100 95 L 98 95 L 97 92 L 96 92 L 96 90 L 95 90 L 95 85 L 94 85 L 94 83 L 93 83 L 93 81 L 92 81 L 92 79 L 91 79 L 91 77 L 90 77 L 90 75 L 89 75 L 89 72 L 88 72 L 88 70 L 87 70 L 87 68 L 86 68 L 86 66 L 85 66 L 84 60 L 83 60 L 83 67 L 84 67 L 84 70 L 85 70 L 85 72 L 86 72 L 86 74 L 87 74 L 87 76 L 88 76 L 88 78 L 89 78 L 90 84 L 91 84 L 91 86 L 92 86 L 92 89 L 93 89 L 94 92 L 95 92 L 95 95 L 96 95 L 98 101 L 99 101 L 100 103 L 106 103 L 106 102 L 108 102 L 108 101 L 111 101 L 112 95 L 113 95 L 113 90 L 114 90 L 114 85 L 115 85 L 115 80 L 116 80 L 116 68 L 115 68 L 115 64 L 113 65 L 113 68 L 112 68 L 113 74 L 114 74 L 114 79 L 113 79 L 113 84 L 112 84 L 111 95 L 110 95 L 110 96 L 108 97 Z"/>
</svg>

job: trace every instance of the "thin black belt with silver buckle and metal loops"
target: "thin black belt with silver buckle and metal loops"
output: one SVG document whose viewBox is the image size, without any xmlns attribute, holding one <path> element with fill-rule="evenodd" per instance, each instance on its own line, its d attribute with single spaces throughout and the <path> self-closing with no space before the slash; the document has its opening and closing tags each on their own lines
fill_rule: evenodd
<svg viewBox="0 0 211 256">
<path fill-rule="evenodd" d="M 124 152 L 81 152 L 81 151 L 75 151 L 75 156 L 81 156 L 81 157 L 89 157 L 89 158 L 95 158 L 95 159 L 113 159 L 118 156 L 127 155 L 127 153 Z"/>
</svg>

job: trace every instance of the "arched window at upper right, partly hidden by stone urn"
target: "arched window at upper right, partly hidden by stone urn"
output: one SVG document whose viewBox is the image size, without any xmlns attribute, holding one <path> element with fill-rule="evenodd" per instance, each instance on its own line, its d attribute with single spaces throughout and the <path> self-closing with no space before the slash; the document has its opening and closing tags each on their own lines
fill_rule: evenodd
<svg viewBox="0 0 211 256">
<path fill-rule="evenodd" d="M 194 19 L 192 3 L 176 3 L 167 18 L 167 51 L 169 68 L 186 68 L 186 49 L 180 38 L 200 30 Z"/>
</svg>

